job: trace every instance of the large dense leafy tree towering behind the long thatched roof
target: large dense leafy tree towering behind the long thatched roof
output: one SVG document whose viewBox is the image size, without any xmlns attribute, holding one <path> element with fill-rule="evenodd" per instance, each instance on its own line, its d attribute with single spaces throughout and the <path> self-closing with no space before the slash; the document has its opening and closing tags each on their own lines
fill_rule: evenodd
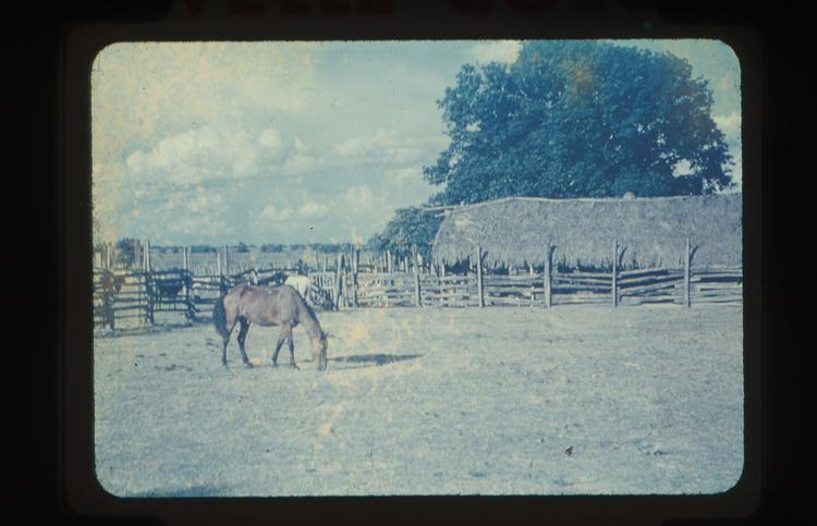
<svg viewBox="0 0 817 526">
<path fill-rule="evenodd" d="M 451 144 L 424 168 L 444 186 L 437 204 L 693 195 L 731 185 L 711 90 L 669 53 L 528 41 L 511 65 L 464 65 L 438 105 Z"/>
</svg>

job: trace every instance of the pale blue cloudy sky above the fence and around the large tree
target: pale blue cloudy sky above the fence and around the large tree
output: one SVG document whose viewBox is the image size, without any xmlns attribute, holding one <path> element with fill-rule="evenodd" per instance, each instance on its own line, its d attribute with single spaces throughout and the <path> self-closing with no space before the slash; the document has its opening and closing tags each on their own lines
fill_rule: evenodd
<svg viewBox="0 0 817 526">
<path fill-rule="evenodd" d="M 710 83 L 740 179 L 740 68 L 714 40 L 625 40 Z M 122 42 L 92 70 L 95 241 L 363 242 L 440 188 L 444 89 L 516 41 Z"/>
</svg>

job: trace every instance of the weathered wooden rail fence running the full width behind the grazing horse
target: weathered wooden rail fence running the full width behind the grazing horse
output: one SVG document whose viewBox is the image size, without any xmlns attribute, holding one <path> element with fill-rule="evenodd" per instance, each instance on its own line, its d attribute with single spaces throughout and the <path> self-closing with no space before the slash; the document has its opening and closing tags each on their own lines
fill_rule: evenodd
<svg viewBox="0 0 817 526">
<path fill-rule="evenodd" d="M 613 253 L 622 250 L 613 243 Z M 155 322 L 157 313 L 182 313 L 188 319 L 208 318 L 222 291 L 246 281 L 281 283 L 295 269 L 239 269 L 230 273 L 227 249 L 219 255 L 214 273 L 196 274 L 188 268 L 153 270 L 149 249 L 136 270 L 100 268 L 94 274 L 95 321 L 111 328 L 118 319 L 142 318 Z M 618 257 L 609 271 L 559 270 L 552 262 L 553 248 L 544 250 L 541 271 L 532 267 L 522 274 L 495 273 L 481 265 L 481 249 L 466 273 L 446 273 L 444 267 L 424 266 L 414 258 L 393 265 L 359 265 L 354 250 L 337 257 L 333 269 L 327 261 L 320 271 L 309 272 L 308 301 L 325 309 L 351 307 L 486 307 L 570 304 L 642 305 L 671 303 L 691 306 L 702 303 L 740 304 L 743 301 L 742 268 L 693 268 L 693 248 L 685 245 L 683 268 L 620 270 Z M 190 257 L 185 255 L 184 266 Z M 392 272 L 381 271 L 392 269 Z"/>
</svg>

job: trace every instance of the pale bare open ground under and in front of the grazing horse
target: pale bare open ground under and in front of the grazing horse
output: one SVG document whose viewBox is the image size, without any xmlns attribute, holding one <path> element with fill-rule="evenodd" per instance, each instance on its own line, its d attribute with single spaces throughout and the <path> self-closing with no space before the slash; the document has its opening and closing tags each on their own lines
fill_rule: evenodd
<svg viewBox="0 0 817 526">
<path fill-rule="evenodd" d="M 96 470 L 127 497 L 714 493 L 743 465 L 742 309 L 318 313 L 95 337 Z"/>
</svg>

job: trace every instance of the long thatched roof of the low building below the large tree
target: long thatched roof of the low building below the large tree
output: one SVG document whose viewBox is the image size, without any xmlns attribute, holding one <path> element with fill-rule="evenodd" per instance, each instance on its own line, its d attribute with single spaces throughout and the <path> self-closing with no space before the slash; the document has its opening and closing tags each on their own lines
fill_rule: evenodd
<svg viewBox="0 0 817 526">
<path fill-rule="evenodd" d="M 679 267 L 690 236 L 696 267 L 742 264 L 742 194 L 625 199 L 509 197 L 451 210 L 435 238 L 437 261 L 483 247 L 488 266 L 554 261 L 609 266 L 613 240 L 624 266 Z"/>
</svg>

